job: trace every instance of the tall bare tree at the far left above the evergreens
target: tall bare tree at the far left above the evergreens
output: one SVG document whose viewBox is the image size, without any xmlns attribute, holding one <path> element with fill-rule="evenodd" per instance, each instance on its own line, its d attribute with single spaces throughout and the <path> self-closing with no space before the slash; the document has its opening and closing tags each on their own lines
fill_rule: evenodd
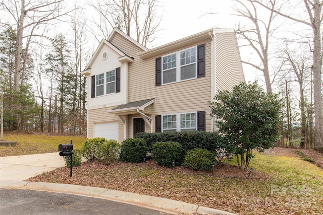
<svg viewBox="0 0 323 215">
<path fill-rule="evenodd" d="M 61 13 L 63 1 L 64 0 L 36 0 L 31 2 L 25 0 L 8 0 L 1 3 L 0 10 L 9 13 L 17 25 L 14 74 L 15 90 L 19 89 L 19 85 L 21 84 L 20 81 L 24 79 L 24 77 L 21 77 L 24 75 L 22 66 L 22 57 L 24 57 L 23 39 L 28 38 L 27 44 L 24 47 L 27 54 L 30 38 L 36 36 L 35 29 L 41 24 L 58 19 L 68 13 Z M 26 33 L 26 31 L 29 32 Z"/>
</svg>

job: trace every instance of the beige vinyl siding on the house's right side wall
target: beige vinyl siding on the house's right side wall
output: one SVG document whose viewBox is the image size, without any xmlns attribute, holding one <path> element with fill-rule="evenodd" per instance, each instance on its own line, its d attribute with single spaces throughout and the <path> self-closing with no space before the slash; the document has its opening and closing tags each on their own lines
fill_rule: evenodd
<svg viewBox="0 0 323 215">
<path fill-rule="evenodd" d="M 236 36 L 217 33 L 215 42 L 216 91 L 232 91 L 233 86 L 245 81 Z"/>
</svg>

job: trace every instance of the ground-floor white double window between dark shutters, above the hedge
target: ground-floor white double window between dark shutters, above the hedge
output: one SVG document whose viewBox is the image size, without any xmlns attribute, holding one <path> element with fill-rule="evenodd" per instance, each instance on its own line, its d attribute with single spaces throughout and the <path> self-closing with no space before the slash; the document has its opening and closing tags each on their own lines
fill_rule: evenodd
<svg viewBox="0 0 323 215">
<path fill-rule="evenodd" d="M 163 132 L 171 131 L 195 131 L 196 112 L 176 113 L 162 116 Z"/>
</svg>

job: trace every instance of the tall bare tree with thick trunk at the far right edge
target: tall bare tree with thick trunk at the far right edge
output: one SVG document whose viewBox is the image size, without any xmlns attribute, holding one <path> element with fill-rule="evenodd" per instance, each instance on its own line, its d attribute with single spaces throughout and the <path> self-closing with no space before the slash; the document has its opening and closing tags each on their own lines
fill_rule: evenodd
<svg viewBox="0 0 323 215">
<path fill-rule="evenodd" d="M 315 114 L 315 144 L 314 148 L 323 151 L 323 110 L 322 110 L 322 49 L 321 49 L 321 24 L 323 20 L 322 6 L 319 0 L 303 0 L 303 8 L 308 15 L 308 19 L 299 19 L 292 15 L 282 12 L 284 3 L 278 9 L 267 7 L 261 0 L 253 0 L 267 10 L 275 12 L 297 23 L 309 26 L 312 29 L 313 45 L 313 95 L 314 95 L 314 114 Z"/>
</svg>

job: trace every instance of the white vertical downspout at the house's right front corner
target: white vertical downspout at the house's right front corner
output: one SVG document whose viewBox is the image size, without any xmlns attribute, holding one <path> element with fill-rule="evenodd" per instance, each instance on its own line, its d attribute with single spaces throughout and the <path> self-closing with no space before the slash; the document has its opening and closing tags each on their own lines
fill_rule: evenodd
<svg viewBox="0 0 323 215">
<path fill-rule="evenodd" d="M 214 41 L 213 32 L 208 32 L 208 36 L 211 39 L 211 101 L 213 101 L 214 96 L 216 95 L 216 45 Z M 214 126 L 214 118 L 211 118 L 211 131 L 214 131 L 216 128 Z"/>
</svg>

